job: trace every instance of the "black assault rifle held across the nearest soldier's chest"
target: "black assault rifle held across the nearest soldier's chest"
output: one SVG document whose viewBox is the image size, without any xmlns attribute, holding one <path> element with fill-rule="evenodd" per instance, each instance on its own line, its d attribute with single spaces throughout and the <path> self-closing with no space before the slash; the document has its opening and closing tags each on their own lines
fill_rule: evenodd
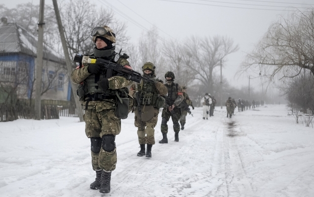
<svg viewBox="0 0 314 197">
<path fill-rule="evenodd" d="M 82 64 L 83 57 L 84 55 L 76 54 L 73 61 Z M 106 73 L 106 75 L 108 76 L 107 78 L 109 78 L 109 76 L 111 76 L 111 73 L 115 71 L 117 72 L 116 76 L 123 76 L 127 80 L 133 82 L 141 83 L 141 80 L 144 80 L 146 82 L 154 84 L 158 83 L 158 81 L 151 80 L 148 77 L 142 76 L 139 72 L 136 72 L 130 68 L 125 68 L 123 65 L 116 64 L 114 62 L 110 62 L 101 58 L 88 58 L 87 63 L 100 65 L 102 67 L 102 72 Z"/>
</svg>

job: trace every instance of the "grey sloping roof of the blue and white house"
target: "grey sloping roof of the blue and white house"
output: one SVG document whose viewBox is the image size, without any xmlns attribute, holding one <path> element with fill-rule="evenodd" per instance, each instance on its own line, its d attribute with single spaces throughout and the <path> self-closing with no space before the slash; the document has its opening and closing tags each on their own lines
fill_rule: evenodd
<svg viewBox="0 0 314 197">
<path fill-rule="evenodd" d="M 17 23 L 0 24 L 0 54 L 22 53 L 37 57 L 37 37 Z M 64 62 L 64 58 L 44 44 L 43 58 Z"/>
</svg>

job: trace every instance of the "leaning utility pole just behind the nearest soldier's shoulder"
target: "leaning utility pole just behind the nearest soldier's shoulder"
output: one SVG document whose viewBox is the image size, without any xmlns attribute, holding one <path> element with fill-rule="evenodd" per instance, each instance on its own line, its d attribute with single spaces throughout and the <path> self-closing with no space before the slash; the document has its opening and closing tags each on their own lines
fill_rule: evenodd
<svg viewBox="0 0 314 197">
<path fill-rule="evenodd" d="M 70 56 L 69 56 L 69 52 L 66 46 L 66 41 L 65 41 L 65 36 L 64 36 L 64 30 L 63 30 L 63 26 L 62 26 L 62 22 L 61 22 L 61 17 L 60 17 L 60 13 L 59 13 L 59 8 L 58 8 L 58 4 L 57 4 L 57 0 L 52 0 L 54 9 L 55 9 L 55 13 L 56 13 L 56 18 L 57 18 L 57 23 L 58 23 L 58 28 L 59 28 L 59 33 L 60 33 L 60 37 L 61 37 L 61 43 L 62 43 L 62 48 L 63 48 L 63 52 L 64 52 L 64 57 L 65 57 L 65 62 L 66 62 L 66 68 L 67 68 L 67 75 L 69 77 L 69 82 L 71 83 L 71 89 L 72 89 L 72 93 L 74 96 L 74 101 L 75 101 L 75 106 L 77 109 L 77 114 L 78 117 L 80 117 L 80 122 L 83 122 L 83 111 L 82 111 L 82 105 L 80 103 L 80 101 L 78 100 L 78 97 L 75 96 L 76 95 L 76 89 L 77 86 L 76 84 L 74 84 L 72 82 L 72 80 L 70 80 L 71 78 L 71 73 L 72 73 L 72 61 L 70 60 Z"/>
</svg>

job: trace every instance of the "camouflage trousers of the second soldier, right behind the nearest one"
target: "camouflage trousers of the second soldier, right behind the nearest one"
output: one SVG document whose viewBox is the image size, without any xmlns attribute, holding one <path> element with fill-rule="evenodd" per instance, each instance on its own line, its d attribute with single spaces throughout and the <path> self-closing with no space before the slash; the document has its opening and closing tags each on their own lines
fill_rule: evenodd
<svg viewBox="0 0 314 197">
<path fill-rule="evenodd" d="M 154 127 L 158 121 L 159 110 L 154 108 L 154 116 L 149 121 L 143 122 L 135 116 L 134 125 L 137 127 L 139 144 L 155 144 Z M 146 136 L 145 136 L 146 134 Z"/>
</svg>

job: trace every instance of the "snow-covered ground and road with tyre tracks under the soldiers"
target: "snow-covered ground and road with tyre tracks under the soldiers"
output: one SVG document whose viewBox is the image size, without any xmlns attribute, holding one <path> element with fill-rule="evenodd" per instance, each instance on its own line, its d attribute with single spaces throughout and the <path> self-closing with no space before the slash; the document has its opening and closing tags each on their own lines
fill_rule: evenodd
<svg viewBox="0 0 314 197">
<path fill-rule="evenodd" d="M 235 110 L 238 110 L 235 109 Z M 139 157 L 134 114 L 116 136 L 117 166 L 111 192 L 99 193 L 90 140 L 78 118 L 0 123 L 0 196 L 314 196 L 314 129 L 296 124 L 284 105 L 235 112 L 216 107 L 187 115 L 174 142 L 159 144 L 161 113 L 152 157 Z"/>
</svg>

